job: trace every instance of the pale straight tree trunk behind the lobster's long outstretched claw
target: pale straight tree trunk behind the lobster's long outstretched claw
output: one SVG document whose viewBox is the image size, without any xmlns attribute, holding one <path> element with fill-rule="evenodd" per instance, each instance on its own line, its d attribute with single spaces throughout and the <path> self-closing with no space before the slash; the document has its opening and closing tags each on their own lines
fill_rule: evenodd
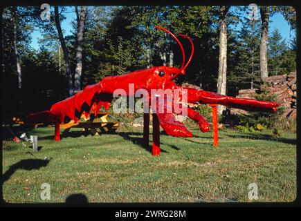
<svg viewBox="0 0 301 221">
<path fill-rule="evenodd" d="M 221 7 L 221 17 L 219 26 L 219 76 L 217 78 L 217 93 L 226 95 L 227 81 L 227 22 L 226 17 L 230 7 Z M 218 113 L 221 114 L 225 106 L 218 106 Z"/>
</svg>

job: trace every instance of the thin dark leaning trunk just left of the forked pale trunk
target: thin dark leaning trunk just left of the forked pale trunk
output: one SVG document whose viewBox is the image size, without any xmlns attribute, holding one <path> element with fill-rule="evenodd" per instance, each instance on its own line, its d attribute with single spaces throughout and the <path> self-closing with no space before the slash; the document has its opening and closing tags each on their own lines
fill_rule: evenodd
<svg viewBox="0 0 301 221">
<path fill-rule="evenodd" d="M 68 77 L 68 92 L 69 97 L 73 96 L 73 81 L 72 81 L 72 74 L 71 74 L 71 67 L 70 67 L 70 60 L 69 60 L 69 52 L 68 48 L 66 47 L 66 43 L 63 37 L 63 32 L 60 24 L 60 17 L 59 17 L 59 8 L 58 6 L 55 7 L 55 26 L 57 27 L 57 33 L 59 35 L 60 43 L 64 53 L 64 60 L 66 63 L 66 74 Z"/>
</svg>

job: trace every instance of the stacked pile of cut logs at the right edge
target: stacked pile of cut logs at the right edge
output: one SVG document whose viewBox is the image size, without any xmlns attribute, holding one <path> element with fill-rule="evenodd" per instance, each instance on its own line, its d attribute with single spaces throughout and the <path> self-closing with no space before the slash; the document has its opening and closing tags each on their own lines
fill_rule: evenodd
<svg viewBox="0 0 301 221">
<path fill-rule="evenodd" d="M 266 85 L 260 89 L 239 90 L 237 97 L 254 98 L 256 93 L 267 90 L 269 93 L 277 96 L 277 102 L 284 107 L 284 117 L 295 118 L 297 115 L 297 77 L 296 73 L 289 75 L 275 75 L 268 77 Z M 246 111 L 231 108 L 232 114 L 246 113 Z"/>
</svg>

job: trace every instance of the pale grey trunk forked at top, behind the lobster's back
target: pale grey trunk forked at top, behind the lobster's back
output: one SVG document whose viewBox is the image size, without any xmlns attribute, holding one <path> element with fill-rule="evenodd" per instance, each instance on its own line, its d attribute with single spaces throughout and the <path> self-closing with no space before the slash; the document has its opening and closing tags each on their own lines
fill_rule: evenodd
<svg viewBox="0 0 301 221">
<path fill-rule="evenodd" d="M 75 93 L 80 91 L 81 77 L 82 77 L 82 41 L 84 39 L 84 22 L 86 20 L 86 6 L 80 7 L 80 16 L 78 16 L 77 6 L 77 49 L 76 49 L 76 68 L 74 77 Z"/>
</svg>

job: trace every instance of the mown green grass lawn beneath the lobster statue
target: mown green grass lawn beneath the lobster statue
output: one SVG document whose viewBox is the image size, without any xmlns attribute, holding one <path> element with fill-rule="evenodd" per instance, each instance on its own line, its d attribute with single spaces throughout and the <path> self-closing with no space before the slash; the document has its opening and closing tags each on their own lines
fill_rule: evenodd
<svg viewBox="0 0 301 221">
<path fill-rule="evenodd" d="M 12 128 L 18 135 L 21 129 Z M 81 193 L 89 202 L 291 202 L 296 198 L 296 135 L 192 130 L 195 137 L 161 134 L 161 156 L 140 146 L 141 128 L 99 136 L 71 130 L 61 142 L 54 128 L 37 128 L 40 150 L 12 141 L 3 127 L 3 199 L 6 202 L 65 202 Z M 150 137 L 152 140 L 152 137 Z M 151 144 L 151 143 L 150 143 Z M 44 160 L 45 157 L 48 160 Z M 248 200 L 248 184 L 258 200 Z M 42 200 L 41 184 L 51 185 Z"/>
</svg>

